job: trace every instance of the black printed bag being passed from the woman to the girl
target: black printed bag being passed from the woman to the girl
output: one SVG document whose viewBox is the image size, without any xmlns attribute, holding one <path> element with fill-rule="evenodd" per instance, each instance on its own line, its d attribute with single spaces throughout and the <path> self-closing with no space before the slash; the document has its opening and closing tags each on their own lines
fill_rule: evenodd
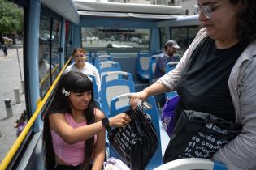
<svg viewBox="0 0 256 170">
<path fill-rule="evenodd" d="M 156 130 L 142 108 L 125 113 L 131 117 L 130 124 L 113 129 L 108 139 L 125 164 L 132 170 L 143 170 L 158 148 Z"/>
</svg>

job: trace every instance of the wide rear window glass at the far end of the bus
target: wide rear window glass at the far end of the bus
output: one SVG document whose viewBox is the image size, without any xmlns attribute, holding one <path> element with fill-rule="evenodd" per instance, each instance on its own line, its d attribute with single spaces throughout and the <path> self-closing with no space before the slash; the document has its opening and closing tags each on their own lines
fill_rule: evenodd
<svg viewBox="0 0 256 170">
<path fill-rule="evenodd" d="M 150 29 L 128 28 L 82 28 L 82 45 L 85 49 L 93 51 L 105 49 L 149 49 Z"/>
</svg>

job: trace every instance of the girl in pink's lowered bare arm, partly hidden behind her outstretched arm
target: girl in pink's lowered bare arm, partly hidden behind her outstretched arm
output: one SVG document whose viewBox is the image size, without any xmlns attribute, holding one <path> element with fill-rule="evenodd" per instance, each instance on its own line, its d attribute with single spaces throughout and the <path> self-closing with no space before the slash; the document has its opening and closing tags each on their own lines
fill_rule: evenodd
<svg viewBox="0 0 256 170">
<path fill-rule="evenodd" d="M 96 112 L 97 121 L 102 121 L 102 118 L 104 117 L 105 117 L 104 114 L 102 114 L 102 112 L 99 112 L 97 110 Z M 103 130 L 97 134 L 97 141 L 94 149 L 92 170 L 102 169 L 104 158 L 105 158 L 105 136 L 106 136 L 106 130 Z"/>
</svg>

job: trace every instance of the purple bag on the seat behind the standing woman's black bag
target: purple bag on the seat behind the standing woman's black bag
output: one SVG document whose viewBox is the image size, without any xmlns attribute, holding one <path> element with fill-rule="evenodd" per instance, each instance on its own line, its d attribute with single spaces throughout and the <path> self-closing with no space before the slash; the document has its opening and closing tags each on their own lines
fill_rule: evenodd
<svg viewBox="0 0 256 170">
<path fill-rule="evenodd" d="M 168 136 L 171 137 L 172 130 L 175 127 L 174 117 L 175 117 L 175 108 L 180 100 L 179 96 L 174 96 L 171 99 L 167 100 L 163 106 L 162 111 L 162 125 L 163 129 L 167 132 Z"/>
</svg>

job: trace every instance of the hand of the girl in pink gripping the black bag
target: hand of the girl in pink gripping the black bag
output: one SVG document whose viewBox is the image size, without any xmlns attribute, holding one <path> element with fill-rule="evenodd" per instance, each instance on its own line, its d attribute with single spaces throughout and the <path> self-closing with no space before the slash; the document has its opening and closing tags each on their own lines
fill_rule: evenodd
<svg viewBox="0 0 256 170">
<path fill-rule="evenodd" d="M 126 113 L 120 113 L 115 117 L 109 118 L 111 127 L 125 127 L 131 121 L 131 118 Z"/>
</svg>

